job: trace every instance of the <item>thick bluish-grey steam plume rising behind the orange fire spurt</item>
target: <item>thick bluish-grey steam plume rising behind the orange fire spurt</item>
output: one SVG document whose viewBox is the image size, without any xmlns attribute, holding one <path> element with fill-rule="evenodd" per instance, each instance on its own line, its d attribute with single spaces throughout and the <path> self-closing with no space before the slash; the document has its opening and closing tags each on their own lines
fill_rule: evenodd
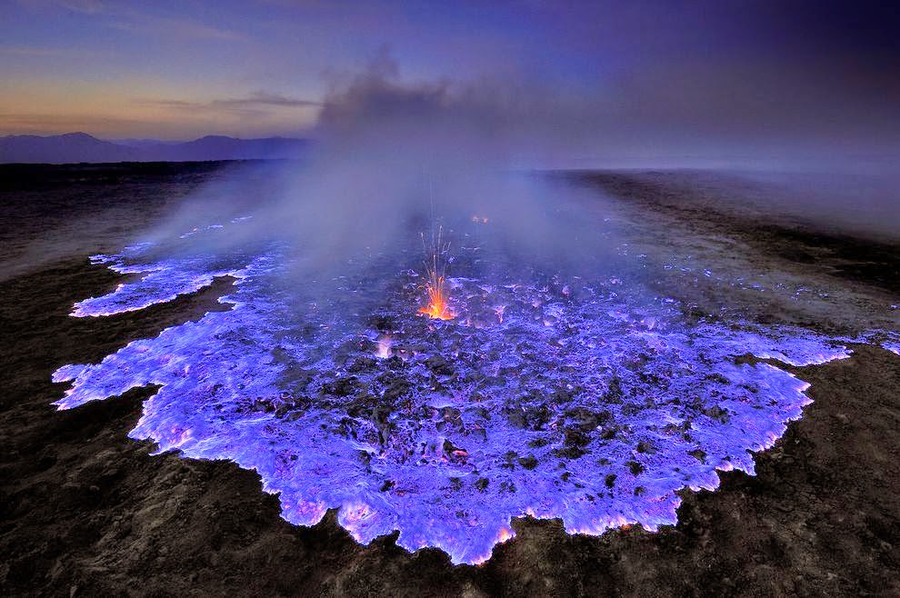
<svg viewBox="0 0 900 598">
<path fill-rule="evenodd" d="M 285 242 L 295 251 L 293 274 L 305 284 L 365 271 L 385 255 L 420 265 L 420 234 L 436 226 L 452 245 L 486 243 L 499 262 L 577 269 L 602 261 L 608 240 L 594 218 L 602 210 L 585 218 L 585 203 L 597 206 L 595 192 L 588 197 L 522 167 L 524 156 L 547 146 L 540 127 L 528 124 L 533 104 L 485 86 L 405 84 L 381 55 L 332 86 L 313 154 L 270 170 L 254 196 L 253 220 L 216 243 Z M 237 213 L 219 201 L 227 190 L 205 195 L 228 217 Z M 192 205 L 166 223 L 165 234 L 189 230 L 195 224 L 185 215 L 196 212 Z M 474 217 L 487 231 L 477 239 Z"/>
</svg>

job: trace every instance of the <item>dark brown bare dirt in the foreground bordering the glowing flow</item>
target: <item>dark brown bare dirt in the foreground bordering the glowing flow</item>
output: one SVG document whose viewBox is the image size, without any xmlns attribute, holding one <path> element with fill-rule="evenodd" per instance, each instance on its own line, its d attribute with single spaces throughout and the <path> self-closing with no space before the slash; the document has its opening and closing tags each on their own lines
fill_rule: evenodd
<svg viewBox="0 0 900 598">
<path fill-rule="evenodd" d="M 147 184 L 137 178 L 115 184 Z M 35 185 L 0 189 L 0 224 L 23 217 L 10 202 Z M 64 194 L 50 186 L 35 196 Z M 162 191 L 146 188 L 148 206 L 165 203 Z M 108 201 L 91 196 L 82 208 Z M 25 246 L 34 232 L 18 230 Z M 124 226 L 104 238 L 113 244 L 128 233 Z M 20 246 L 14 237 L 4 244 Z M 823 238 L 805 243 L 831 242 Z M 50 382 L 58 366 L 95 362 L 221 308 L 215 298 L 227 284 L 137 314 L 71 318 L 75 301 L 116 282 L 87 254 L 54 256 L 0 282 L 4 595 L 900 595 L 895 354 L 859 345 L 850 359 L 793 369 L 812 383 L 804 418 L 756 456 L 755 477 L 722 473 L 715 493 L 683 493 L 674 527 L 596 538 L 526 518 L 490 561 L 454 567 L 437 550 L 406 553 L 395 537 L 361 546 L 334 513 L 313 528 L 292 526 L 257 475 L 234 463 L 151 456 L 152 446 L 126 437 L 148 389 L 56 412 L 50 403 L 65 391 Z"/>
</svg>

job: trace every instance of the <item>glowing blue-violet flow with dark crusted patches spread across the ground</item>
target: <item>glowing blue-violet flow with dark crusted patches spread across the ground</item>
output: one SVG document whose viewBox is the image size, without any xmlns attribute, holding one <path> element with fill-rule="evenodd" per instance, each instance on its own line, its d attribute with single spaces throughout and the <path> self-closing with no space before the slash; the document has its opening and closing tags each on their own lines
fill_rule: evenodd
<svg viewBox="0 0 900 598">
<path fill-rule="evenodd" d="M 159 385 L 132 438 L 255 470 L 291 523 L 338 508 L 360 543 L 399 530 L 407 550 L 434 546 L 453 563 L 484 562 L 524 515 L 570 533 L 675 524 L 676 491 L 715 489 L 716 470 L 753 474 L 751 452 L 810 403 L 808 384 L 748 354 L 793 365 L 850 354 L 799 328 L 689 324 L 675 300 L 617 278 L 455 278 L 459 315 L 437 322 L 416 314 L 419 277 L 405 270 L 376 329 L 336 299 L 285 292 L 276 248 L 155 262 L 143 249 L 96 258 L 145 276 L 74 314 L 142 309 L 222 275 L 236 279 L 220 299 L 233 309 L 59 368 L 54 381 L 72 386 L 56 405 Z"/>
</svg>

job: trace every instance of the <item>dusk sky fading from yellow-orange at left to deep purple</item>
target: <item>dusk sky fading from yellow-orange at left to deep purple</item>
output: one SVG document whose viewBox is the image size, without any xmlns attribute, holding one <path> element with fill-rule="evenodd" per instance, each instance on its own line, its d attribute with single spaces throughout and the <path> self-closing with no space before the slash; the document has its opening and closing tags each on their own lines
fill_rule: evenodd
<svg viewBox="0 0 900 598">
<path fill-rule="evenodd" d="M 398 85 L 537 98 L 607 150 L 882 153 L 898 25 L 890 2 L 3 0 L 0 134 L 309 135 L 381 57 Z"/>
</svg>

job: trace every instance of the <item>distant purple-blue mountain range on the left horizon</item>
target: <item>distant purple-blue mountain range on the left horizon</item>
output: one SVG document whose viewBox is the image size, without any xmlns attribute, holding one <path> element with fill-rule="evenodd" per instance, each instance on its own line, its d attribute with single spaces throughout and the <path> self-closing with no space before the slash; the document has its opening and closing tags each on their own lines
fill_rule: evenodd
<svg viewBox="0 0 900 598">
<path fill-rule="evenodd" d="M 0 163 L 199 162 L 296 158 L 308 142 L 291 137 L 238 139 L 208 135 L 185 143 L 151 139 L 103 141 L 85 133 L 0 137 Z"/>
</svg>

